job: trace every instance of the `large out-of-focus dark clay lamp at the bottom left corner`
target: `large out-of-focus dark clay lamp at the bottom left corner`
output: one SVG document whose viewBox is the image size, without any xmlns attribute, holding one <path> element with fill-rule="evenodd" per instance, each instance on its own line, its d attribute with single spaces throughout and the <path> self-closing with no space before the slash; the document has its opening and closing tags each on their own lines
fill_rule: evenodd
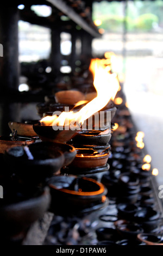
<svg viewBox="0 0 163 256">
<path fill-rule="evenodd" d="M 9 185 L 9 182 L 8 182 Z M 1 241 L 21 245 L 29 228 L 40 220 L 49 208 L 49 188 L 19 190 L 4 185 L 4 198 L 0 206 Z"/>
</svg>

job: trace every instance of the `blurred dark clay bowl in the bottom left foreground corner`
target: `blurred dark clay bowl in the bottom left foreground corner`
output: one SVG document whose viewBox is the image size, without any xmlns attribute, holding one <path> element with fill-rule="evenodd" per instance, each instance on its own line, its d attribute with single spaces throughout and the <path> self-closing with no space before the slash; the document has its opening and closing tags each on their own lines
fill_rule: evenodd
<svg viewBox="0 0 163 256">
<path fill-rule="evenodd" d="M 21 233 L 27 234 L 30 226 L 39 220 L 49 208 L 51 195 L 49 188 L 37 193 L 37 196 L 30 196 L 17 202 L 5 202 L 0 206 L 0 224 L 2 239 L 12 240 Z M 14 200 L 16 198 L 14 197 Z M 24 238 L 24 237 L 23 237 Z"/>
</svg>

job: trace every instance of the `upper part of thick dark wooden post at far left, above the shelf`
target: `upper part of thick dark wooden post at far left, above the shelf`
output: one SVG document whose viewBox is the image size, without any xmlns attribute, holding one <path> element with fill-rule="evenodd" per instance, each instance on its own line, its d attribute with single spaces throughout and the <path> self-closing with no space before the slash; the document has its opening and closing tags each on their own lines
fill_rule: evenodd
<svg viewBox="0 0 163 256">
<path fill-rule="evenodd" d="M 18 9 L 10 4 L 0 8 L 0 43 L 3 57 L 0 57 L 1 90 L 17 90 L 19 77 L 18 64 Z"/>
</svg>

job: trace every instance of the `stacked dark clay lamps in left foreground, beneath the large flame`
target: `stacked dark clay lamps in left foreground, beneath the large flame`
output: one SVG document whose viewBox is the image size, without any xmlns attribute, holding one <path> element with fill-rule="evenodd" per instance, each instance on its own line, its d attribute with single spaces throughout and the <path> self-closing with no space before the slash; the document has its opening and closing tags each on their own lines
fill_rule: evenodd
<svg viewBox="0 0 163 256">
<path fill-rule="evenodd" d="M 116 108 L 112 102 L 110 106 L 105 109 L 114 117 Z M 46 211 L 83 215 L 108 204 L 105 186 L 85 175 L 109 169 L 111 129 L 81 131 L 66 141 L 61 136 L 60 142 L 52 126 L 40 126 L 38 120 L 10 121 L 9 127 L 11 135 L 0 137 L 4 242 L 22 243 L 30 225 Z"/>
</svg>

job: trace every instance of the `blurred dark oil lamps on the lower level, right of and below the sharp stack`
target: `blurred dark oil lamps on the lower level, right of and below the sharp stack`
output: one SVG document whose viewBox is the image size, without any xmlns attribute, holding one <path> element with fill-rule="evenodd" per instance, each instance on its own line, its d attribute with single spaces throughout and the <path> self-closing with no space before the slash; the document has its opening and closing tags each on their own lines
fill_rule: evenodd
<svg viewBox="0 0 163 256">
<path fill-rule="evenodd" d="M 45 244 L 162 245 L 162 216 L 151 184 L 151 157 L 144 157 L 137 144 L 143 133 L 135 131 L 125 105 L 118 106 L 113 121 L 110 168 L 101 178 L 109 205 L 96 214 L 96 220 L 95 215 L 85 216 L 76 225 L 75 218 L 72 222 L 62 218 L 63 225 L 54 218 Z"/>
</svg>

